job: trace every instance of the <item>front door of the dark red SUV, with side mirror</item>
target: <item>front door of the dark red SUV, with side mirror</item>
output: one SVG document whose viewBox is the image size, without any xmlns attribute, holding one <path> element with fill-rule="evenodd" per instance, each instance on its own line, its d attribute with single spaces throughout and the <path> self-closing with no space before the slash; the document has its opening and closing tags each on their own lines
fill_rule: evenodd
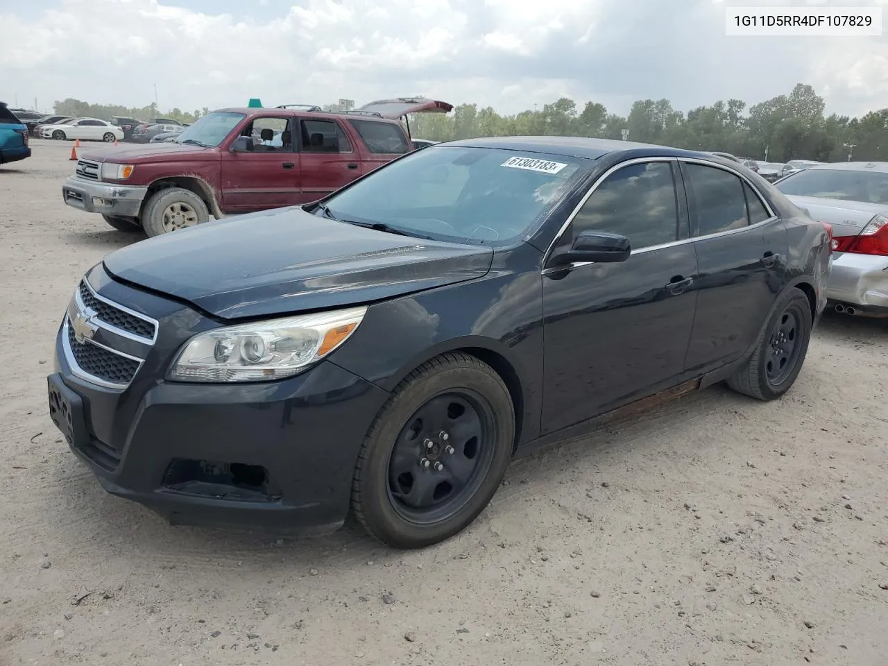
<svg viewBox="0 0 888 666">
<path fill-rule="evenodd" d="M 300 202 L 299 154 L 293 118 L 260 116 L 245 125 L 241 136 L 252 139 L 249 152 L 222 152 L 222 207 L 248 212 L 292 206 Z"/>
</svg>

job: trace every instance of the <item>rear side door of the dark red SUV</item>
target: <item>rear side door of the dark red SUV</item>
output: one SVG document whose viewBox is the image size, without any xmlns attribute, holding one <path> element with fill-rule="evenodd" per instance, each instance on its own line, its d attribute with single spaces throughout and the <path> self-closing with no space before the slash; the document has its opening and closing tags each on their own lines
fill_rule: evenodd
<svg viewBox="0 0 888 666">
<path fill-rule="evenodd" d="M 330 118 L 299 119 L 300 202 L 313 202 L 361 175 L 361 155 L 345 128 Z"/>
</svg>

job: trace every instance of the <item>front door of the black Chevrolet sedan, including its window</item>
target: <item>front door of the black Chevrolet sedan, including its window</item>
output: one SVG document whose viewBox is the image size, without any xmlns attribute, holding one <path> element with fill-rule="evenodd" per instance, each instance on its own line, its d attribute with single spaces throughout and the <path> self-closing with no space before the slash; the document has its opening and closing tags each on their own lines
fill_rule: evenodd
<svg viewBox="0 0 888 666">
<path fill-rule="evenodd" d="M 594 229 L 629 237 L 632 252 L 618 264 L 543 268 L 543 433 L 665 388 L 685 369 L 697 261 L 677 176 L 668 159 L 614 170 L 556 242 Z"/>
</svg>

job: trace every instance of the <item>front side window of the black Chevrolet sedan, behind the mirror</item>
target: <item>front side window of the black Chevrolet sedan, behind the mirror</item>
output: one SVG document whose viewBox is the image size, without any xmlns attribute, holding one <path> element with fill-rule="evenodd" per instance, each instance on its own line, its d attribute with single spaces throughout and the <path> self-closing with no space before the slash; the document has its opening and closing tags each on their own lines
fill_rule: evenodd
<svg viewBox="0 0 888 666">
<path fill-rule="evenodd" d="M 668 162 L 630 164 L 614 171 L 577 212 L 570 238 L 594 230 L 622 234 L 632 250 L 678 239 L 678 204 Z"/>
</svg>

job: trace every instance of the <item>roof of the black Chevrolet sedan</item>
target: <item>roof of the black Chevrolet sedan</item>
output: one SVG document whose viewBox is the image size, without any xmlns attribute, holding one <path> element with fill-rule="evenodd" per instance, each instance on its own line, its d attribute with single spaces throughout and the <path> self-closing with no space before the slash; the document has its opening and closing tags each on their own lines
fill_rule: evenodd
<svg viewBox="0 0 888 666">
<path fill-rule="evenodd" d="M 484 139 L 461 139 L 448 141 L 440 146 L 464 146 L 477 148 L 501 148 L 527 153 L 548 153 L 566 157 L 584 157 L 597 160 L 608 153 L 622 153 L 638 148 L 646 148 L 650 155 L 674 155 L 677 157 L 702 157 L 712 159 L 711 153 L 683 150 L 649 143 L 622 141 L 620 139 L 591 139 L 588 137 L 488 137 Z M 725 158 L 721 158 L 725 159 Z"/>
</svg>

